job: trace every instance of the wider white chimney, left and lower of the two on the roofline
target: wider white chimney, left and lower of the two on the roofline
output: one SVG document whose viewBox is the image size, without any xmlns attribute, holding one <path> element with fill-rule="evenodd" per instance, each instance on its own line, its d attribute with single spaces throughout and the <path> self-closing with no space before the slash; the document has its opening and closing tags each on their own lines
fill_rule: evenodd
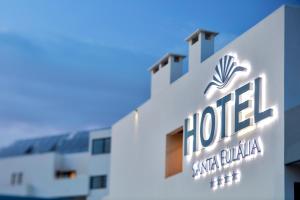
<svg viewBox="0 0 300 200">
<path fill-rule="evenodd" d="M 151 97 L 182 76 L 184 58 L 184 55 L 168 53 L 148 69 L 151 73 Z"/>
</svg>

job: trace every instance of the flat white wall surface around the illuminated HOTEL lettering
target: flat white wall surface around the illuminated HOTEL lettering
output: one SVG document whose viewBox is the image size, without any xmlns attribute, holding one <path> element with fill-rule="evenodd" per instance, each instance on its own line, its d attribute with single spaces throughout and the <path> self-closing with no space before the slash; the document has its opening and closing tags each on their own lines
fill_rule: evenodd
<svg viewBox="0 0 300 200">
<path fill-rule="evenodd" d="M 189 66 L 192 71 L 114 124 L 110 194 L 105 199 L 284 199 L 284 15 L 285 7 L 281 7 L 204 62 Z M 192 178 L 192 162 L 186 159 L 182 173 L 165 179 L 166 134 L 224 95 L 217 92 L 207 101 L 203 91 L 216 63 L 228 53 L 236 53 L 252 68 L 233 90 L 266 75 L 266 103 L 275 105 L 278 118 L 244 136 L 260 136 L 264 155 L 240 165 L 238 185 L 216 191 L 209 187 L 210 176 L 197 181 Z M 231 141 L 238 143 L 239 139 L 235 135 Z M 224 146 L 224 141 L 219 142 L 216 151 Z M 211 154 L 194 155 L 192 160 Z"/>
</svg>

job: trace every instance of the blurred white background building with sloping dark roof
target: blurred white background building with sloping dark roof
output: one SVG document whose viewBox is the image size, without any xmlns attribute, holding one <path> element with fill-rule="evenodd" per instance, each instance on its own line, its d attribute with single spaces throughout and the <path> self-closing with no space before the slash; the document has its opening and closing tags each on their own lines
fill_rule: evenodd
<svg viewBox="0 0 300 200">
<path fill-rule="evenodd" d="M 0 199 L 102 199 L 110 137 L 101 129 L 16 141 L 0 151 Z"/>
</svg>

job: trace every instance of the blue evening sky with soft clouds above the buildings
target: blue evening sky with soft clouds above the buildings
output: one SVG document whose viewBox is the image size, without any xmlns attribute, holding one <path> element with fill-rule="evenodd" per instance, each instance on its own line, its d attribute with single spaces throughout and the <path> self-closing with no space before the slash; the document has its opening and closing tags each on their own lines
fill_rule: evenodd
<svg viewBox="0 0 300 200">
<path fill-rule="evenodd" d="M 300 0 L 0 0 L 0 146 L 111 126 L 197 28 L 218 50 L 283 4 Z"/>
</svg>

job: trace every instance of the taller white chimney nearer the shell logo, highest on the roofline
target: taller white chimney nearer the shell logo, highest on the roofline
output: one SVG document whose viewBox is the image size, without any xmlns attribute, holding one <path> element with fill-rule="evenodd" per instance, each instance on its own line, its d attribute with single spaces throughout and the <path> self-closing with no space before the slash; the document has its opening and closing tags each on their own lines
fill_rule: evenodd
<svg viewBox="0 0 300 200">
<path fill-rule="evenodd" d="M 214 53 L 216 32 L 197 29 L 185 39 L 189 43 L 189 68 L 197 66 Z"/>
</svg>

